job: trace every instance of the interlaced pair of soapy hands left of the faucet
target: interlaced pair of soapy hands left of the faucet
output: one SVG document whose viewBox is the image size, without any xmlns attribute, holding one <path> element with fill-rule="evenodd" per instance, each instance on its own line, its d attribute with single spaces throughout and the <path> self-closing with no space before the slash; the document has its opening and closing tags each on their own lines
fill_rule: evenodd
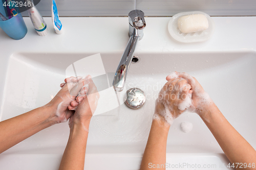
<svg viewBox="0 0 256 170">
<path fill-rule="evenodd" d="M 89 127 L 99 99 L 97 87 L 91 76 L 67 78 L 60 87 L 59 92 L 47 104 L 51 107 L 54 122 L 66 122 L 69 119 L 70 128 L 75 123 Z"/>
</svg>

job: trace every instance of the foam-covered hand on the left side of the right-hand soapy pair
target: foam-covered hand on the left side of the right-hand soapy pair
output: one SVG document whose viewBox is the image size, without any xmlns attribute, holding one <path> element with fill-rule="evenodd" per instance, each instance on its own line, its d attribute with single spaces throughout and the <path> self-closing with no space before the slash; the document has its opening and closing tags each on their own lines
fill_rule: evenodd
<svg viewBox="0 0 256 170">
<path fill-rule="evenodd" d="M 191 86 L 185 79 L 169 79 L 156 100 L 155 119 L 172 125 L 173 120 L 191 105 Z"/>
</svg>

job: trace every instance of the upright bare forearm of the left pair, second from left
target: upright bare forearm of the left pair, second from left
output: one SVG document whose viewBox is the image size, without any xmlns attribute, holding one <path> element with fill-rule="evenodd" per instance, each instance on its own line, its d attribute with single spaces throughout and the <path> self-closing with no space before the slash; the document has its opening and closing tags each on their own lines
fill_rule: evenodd
<svg viewBox="0 0 256 170">
<path fill-rule="evenodd" d="M 86 154 L 88 127 L 82 124 L 74 124 L 70 130 L 70 136 L 65 152 L 63 153 L 59 170 L 82 170 Z"/>
</svg>

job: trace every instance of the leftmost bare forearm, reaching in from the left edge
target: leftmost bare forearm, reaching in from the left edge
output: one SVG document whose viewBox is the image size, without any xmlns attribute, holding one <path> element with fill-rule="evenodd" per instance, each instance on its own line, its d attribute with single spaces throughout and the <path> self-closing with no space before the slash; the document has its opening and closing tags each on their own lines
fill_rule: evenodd
<svg viewBox="0 0 256 170">
<path fill-rule="evenodd" d="M 0 122 L 0 153 L 54 124 L 50 109 L 40 107 Z"/>
</svg>

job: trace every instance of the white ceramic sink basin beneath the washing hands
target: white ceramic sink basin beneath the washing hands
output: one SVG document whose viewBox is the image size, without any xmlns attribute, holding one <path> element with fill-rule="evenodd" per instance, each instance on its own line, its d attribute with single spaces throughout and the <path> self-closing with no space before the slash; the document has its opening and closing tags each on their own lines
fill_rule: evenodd
<svg viewBox="0 0 256 170">
<path fill-rule="evenodd" d="M 0 120 L 47 104 L 66 78 L 67 67 L 91 55 L 94 54 L 13 54 L 8 65 Z M 113 75 L 122 54 L 100 55 L 105 72 Z M 142 89 L 146 102 L 142 108 L 132 110 L 120 98 L 120 106 L 93 116 L 85 169 L 139 168 L 157 94 L 166 82 L 165 77 L 173 71 L 187 72 L 196 77 L 231 125 L 256 148 L 256 136 L 251 135 L 251 130 L 256 129 L 255 52 L 161 52 L 135 55 L 140 58 L 140 62 L 131 65 L 126 89 Z M 112 80 L 113 77 L 109 76 L 110 88 Z M 192 123 L 193 130 L 182 132 L 182 122 Z M 1 154 L 0 167 L 57 169 L 68 137 L 68 123 L 42 130 Z M 182 114 L 170 127 L 166 162 L 177 163 L 185 158 L 197 160 L 202 157 L 209 163 L 215 162 L 218 167 L 219 164 L 228 163 L 201 118 L 195 113 Z"/>
</svg>

